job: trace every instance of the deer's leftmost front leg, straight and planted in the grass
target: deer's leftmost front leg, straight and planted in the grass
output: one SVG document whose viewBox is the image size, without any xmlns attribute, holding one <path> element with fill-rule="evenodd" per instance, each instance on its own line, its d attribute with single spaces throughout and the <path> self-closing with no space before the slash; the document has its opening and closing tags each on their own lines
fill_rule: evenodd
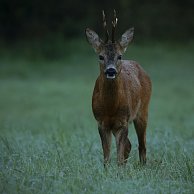
<svg viewBox="0 0 194 194">
<path fill-rule="evenodd" d="M 102 127 L 98 128 L 101 142 L 102 142 L 102 149 L 104 154 L 104 166 L 110 161 L 110 148 L 111 148 L 111 131 L 103 129 Z"/>
</svg>

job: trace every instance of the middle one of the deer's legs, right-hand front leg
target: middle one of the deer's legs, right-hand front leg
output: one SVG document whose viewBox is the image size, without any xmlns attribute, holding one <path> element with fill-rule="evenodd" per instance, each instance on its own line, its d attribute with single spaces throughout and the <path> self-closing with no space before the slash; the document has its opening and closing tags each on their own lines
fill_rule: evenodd
<svg viewBox="0 0 194 194">
<path fill-rule="evenodd" d="M 117 145 L 117 160 L 118 165 L 123 165 L 127 162 L 131 151 L 131 143 L 127 137 L 128 128 L 123 127 L 114 132 Z"/>
</svg>

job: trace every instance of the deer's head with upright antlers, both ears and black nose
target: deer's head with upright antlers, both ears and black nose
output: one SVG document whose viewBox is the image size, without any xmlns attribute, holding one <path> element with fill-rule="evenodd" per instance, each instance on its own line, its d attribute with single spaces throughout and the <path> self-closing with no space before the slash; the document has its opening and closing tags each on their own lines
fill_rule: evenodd
<svg viewBox="0 0 194 194">
<path fill-rule="evenodd" d="M 92 45 L 95 52 L 99 56 L 101 73 L 103 73 L 107 79 L 115 79 L 121 69 L 122 55 L 126 51 L 128 44 L 133 39 L 134 28 L 128 29 L 118 41 L 115 41 L 115 28 L 118 19 L 114 10 L 114 20 L 112 21 L 112 36 L 110 39 L 104 11 L 102 14 L 103 26 L 105 30 L 105 40 L 103 41 L 96 32 L 89 28 L 86 29 L 86 37 L 88 42 Z"/>
</svg>

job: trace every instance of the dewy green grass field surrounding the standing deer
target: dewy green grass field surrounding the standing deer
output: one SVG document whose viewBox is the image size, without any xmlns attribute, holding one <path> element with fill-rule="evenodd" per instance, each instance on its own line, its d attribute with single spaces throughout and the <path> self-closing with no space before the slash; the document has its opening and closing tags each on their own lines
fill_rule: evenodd
<svg viewBox="0 0 194 194">
<path fill-rule="evenodd" d="M 105 170 L 91 111 L 97 60 L 86 43 L 68 46 L 59 60 L 0 54 L 0 193 L 194 193 L 194 47 L 129 48 L 153 82 L 147 164 L 131 125 L 126 167 L 113 141 Z"/>
</svg>

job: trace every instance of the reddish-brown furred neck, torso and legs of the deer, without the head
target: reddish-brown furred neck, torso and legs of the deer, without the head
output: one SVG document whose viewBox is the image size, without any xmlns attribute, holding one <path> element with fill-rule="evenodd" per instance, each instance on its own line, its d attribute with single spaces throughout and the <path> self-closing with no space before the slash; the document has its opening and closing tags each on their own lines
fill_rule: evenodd
<svg viewBox="0 0 194 194">
<path fill-rule="evenodd" d="M 131 150 L 128 139 L 128 123 L 134 122 L 139 142 L 139 157 L 146 162 L 146 126 L 148 104 L 151 96 L 151 81 L 135 61 L 121 60 L 119 73 L 114 80 L 106 79 L 103 64 L 96 80 L 92 109 L 98 122 L 102 140 L 104 163 L 110 160 L 111 134 L 117 145 L 119 164 L 127 161 Z"/>
</svg>

